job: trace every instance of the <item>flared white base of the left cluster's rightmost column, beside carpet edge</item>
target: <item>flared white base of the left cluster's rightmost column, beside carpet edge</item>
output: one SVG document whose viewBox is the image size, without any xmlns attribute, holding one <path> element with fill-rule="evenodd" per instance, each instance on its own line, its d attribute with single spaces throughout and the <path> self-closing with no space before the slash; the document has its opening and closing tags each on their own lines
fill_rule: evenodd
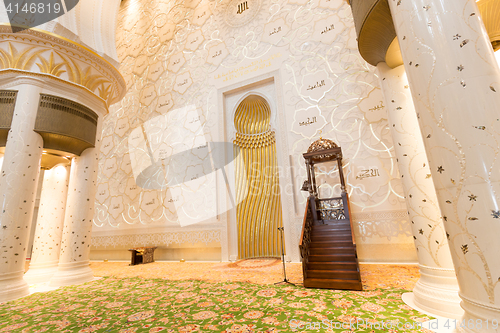
<svg viewBox="0 0 500 333">
<path fill-rule="evenodd" d="M 70 286 L 90 282 L 94 279 L 94 273 L 89 267 L 89 261 L 78 261 L 70 263 L 59 263 L 58 270 L 50 279 L 51 287 Z"/>
</svg>

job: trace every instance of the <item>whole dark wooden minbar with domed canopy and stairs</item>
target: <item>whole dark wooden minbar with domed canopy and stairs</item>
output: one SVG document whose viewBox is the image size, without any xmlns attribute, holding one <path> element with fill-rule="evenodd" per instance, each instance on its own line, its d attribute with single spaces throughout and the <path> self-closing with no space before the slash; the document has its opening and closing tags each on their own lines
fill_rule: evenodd
<svg viewBox="0 0 500 333">
<path fill-rule="evenodd" d="M 303 190 L 309 191 L 299 244 L 304 287 L 362 290 L 342 150 L 335 142 L 320 138 L 303 156 L 307 169 Z M 330 161 L 338 170 L 341 193 L 338 197 L 321 198 L 315 166 Z"/>
</svg>

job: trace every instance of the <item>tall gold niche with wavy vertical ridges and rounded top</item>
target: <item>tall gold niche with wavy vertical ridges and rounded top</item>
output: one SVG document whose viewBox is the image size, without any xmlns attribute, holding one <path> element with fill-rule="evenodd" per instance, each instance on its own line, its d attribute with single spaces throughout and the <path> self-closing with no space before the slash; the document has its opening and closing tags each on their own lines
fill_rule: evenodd
<svg viewBox="0 0 500 333">
<path fill-rule="evenodd" d="M 260 96 L 246 97 L 234 116 L 236 209 L 240 259 L 279 257 L 283 226 L 276 140 L 271 109 Z"/>
</svg>

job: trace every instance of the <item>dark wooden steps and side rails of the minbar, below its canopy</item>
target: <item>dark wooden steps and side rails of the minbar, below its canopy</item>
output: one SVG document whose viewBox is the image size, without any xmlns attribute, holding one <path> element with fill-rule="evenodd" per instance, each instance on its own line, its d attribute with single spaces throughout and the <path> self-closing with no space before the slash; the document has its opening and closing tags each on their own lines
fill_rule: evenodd
<svg viewBox="0 0 500 333">
<path fill-rule="evenodd" d="M 308 200 L 300 242 L 304 287 L 362 290 L 347 198 L 335 199 L 343 202 L 340 208 L 321 209 L 320 200 Z M 332 217 L 332 211 L 341 214 L 333 214 L 337 219 L 321 219 Z"/>
</svg>

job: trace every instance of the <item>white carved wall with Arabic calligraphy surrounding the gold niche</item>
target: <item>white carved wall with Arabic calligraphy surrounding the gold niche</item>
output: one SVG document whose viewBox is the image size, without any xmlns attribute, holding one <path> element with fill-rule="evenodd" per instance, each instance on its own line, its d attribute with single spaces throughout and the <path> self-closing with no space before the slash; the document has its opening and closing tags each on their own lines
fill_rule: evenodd
<svg viewBox="0 0 500 333">
<path fill-rule="evenodd" d="M 227 258 L 227 228 L 235 221 L 224 213 L 226 196 L 214 198 L 218 216 L 207 213 L 203 223 L 183 227 L 182 207 L 169 201 L 170 191 L 136 187 L 132 169 L 150 164 L 147 149 L 157 161 L 162 151 L 176 149 L 172 137 L 185 136 L 189 115 L 167 119 L 186 106 L 196 110 L 206 141 L 231 142 L 223 93 L 273 73 L 283 119 L 276 131 L 287 159 L 280 165 L 280 186 L 290 207 L 284 216 L 290 258 L 300 260 L 307 195 L 300 191 L 306 179 L 302 154 L 321 135 L 342 147 L 360 259 L 415 261 L 390 124 L 374 68 L 357 51 L 350 7 L 342 0 L 247 3 L 250 8 L 236 14 L 234 1 L 123 1 L 116 38 L 128 92 L 103 126 L 94 250 L 147 244 L 208 248 L 215 242 Z M 137 151 L 130 146 L 134 133 L 146 133 L 146 141 L 157 140 L 157 146 L 131 155 Z M 323 180 L 325 191 L 338 191 L 328 176 Z M 224 184 L 220 176 L 216 183 L 219 189 Z M 183 207 L 206 213 L 202 206 Z"/>
</svg>

